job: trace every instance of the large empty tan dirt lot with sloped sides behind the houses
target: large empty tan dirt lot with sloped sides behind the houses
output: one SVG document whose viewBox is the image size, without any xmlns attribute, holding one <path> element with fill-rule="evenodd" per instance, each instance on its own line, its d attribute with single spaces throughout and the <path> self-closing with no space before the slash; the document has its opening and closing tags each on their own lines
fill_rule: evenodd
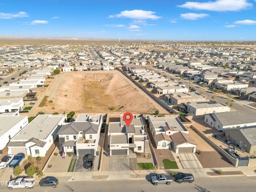
<svg viewBox="0 0 256 192">
<path fill-rule="evenodd" d="M 47 96 L 47 101 L 42 99 Z M 41 103 L 39 107 L 39 104 Z M 43 104 L 43 105 L 42 105 Z M 166 111 L 119 71 L 61 73 L 38 100 L 31 113 L 160 113 Z M 32 114 L 30 114 L 32 115 Z"/>
</svg>

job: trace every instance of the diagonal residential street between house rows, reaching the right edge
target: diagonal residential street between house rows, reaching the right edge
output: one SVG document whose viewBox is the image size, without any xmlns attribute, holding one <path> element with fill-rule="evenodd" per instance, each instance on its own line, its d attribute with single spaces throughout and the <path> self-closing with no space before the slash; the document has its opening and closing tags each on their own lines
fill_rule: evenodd
<svg viewBox="0 0 256 192">
<path fill-rule="evenodd" d="M 188 80 L 184 80 L 179 77 L 175 77 L 174 74 L 167 73 L 167 71 L 164 71 L 164 70 L 156 69 L 153 67 L 146 67 L 146 68 L 150 69 L 150 70 L 154 70 L 156 73 L 159 73 L 161 75 L 165 75 L 169 79 L 173 78 L 173 79 L 177 80 L 178 82 L 181 82 L 182 84 L 185 84 L 187 87 L 189 87 Z M 210 90 L 203 89 L 201 86 L 195 85 L 192 82 L 190 82 L 190 87 L 193 87 L 196 90 L 196 92 L 203 94 L 208 99 L 212 99 L 212 96 L 214 96 L 213 100 L 216 102 L 221 102 L 223 104 L 228 102 L 229 103 L 228 105 L 230 105 L 230 103 L 232 103 L 232 105 L 233 105 L 231 107 L 232 109 L 240 111 L 241 113 L 243 113 L 245 115 L 253 116 L 256 113 L 255 109 L 250 108 L 246 105 L 243 105 L 242 103 L 240 103 L 236 100 L 233 100 L 233 102 L 232 102 L 231 99 L 227 98 L 226 95 L 220 95 L 220 94 L 213 93 Z"/>
</svg>

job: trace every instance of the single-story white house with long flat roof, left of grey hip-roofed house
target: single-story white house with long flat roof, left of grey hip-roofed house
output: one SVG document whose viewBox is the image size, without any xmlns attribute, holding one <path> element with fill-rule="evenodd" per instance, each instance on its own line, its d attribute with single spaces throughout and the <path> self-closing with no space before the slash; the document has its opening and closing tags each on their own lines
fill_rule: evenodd
<svg viewBox="0 0 256 192">
<path fill-rule="evenodd" d="M 66 115 L 38 115 L 8 143 L 8 154 L 24 153 L 44 157 L 58 138 L 57 132 Z"/>
</svg>

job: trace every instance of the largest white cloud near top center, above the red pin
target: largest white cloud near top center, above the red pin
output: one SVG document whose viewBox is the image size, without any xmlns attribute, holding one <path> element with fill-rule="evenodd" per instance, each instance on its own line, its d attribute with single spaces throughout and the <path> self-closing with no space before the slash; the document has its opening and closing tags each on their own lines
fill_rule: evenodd
<svg viewBox="0 0 256 192">
<path fill-rule="evenodd" d="M 155 15 L 154 11 L 145 10 L 125 10 L 115 15 L 109 15 L 109 18 L 129 18 L 134 20 L 159 19 L 161 17 Z"/>
</svg>

